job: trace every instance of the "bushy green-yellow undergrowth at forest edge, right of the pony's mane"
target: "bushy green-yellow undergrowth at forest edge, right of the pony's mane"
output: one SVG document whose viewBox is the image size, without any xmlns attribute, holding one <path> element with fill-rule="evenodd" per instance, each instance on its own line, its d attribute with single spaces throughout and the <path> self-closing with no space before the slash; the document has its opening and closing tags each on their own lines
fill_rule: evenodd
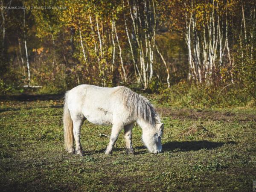
<svg viewBox="0 0 256 192">
<path fill-rule="evenodd" d="M 234 108 L 256 107 L 256 92 L 251 95 L 241 85 L 196 85 L 180 82 L 153 94 L 156 103 L 178 108 Z M 151 94 L 149 94 L 151 96 Z"/>
</svg>

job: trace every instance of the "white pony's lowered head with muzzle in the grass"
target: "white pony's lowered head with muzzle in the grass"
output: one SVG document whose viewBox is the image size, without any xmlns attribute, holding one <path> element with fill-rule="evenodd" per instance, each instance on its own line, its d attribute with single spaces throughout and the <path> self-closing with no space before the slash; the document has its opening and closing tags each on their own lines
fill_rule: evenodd
<svg viewBox="0 0 256 192">
<path fill-rule="evenodd" d="M 144 129 L 142 140 L 148 151 L 154 154 L 162 151 L 161 137 L 163 135 L 163 123 L 156 123 L 153 128 Z"/>
</svg>

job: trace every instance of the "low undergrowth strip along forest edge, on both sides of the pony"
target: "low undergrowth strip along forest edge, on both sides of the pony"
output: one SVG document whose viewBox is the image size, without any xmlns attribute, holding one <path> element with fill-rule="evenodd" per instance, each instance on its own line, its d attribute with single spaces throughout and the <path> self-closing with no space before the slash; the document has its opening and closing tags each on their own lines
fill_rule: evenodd
<svg viewBox="0 0 256 192">
<path fill-rule="evenodd" d="M 123 85 L 123 84 L 122 84 Z M 3 86 L 3 85 L 2 85 Z M 148 90 L 141 90 L 138 85 L 127 85 L 137 93 L 141 93 L 148 97 L 155 105 L 162 107 L 175 108 L 256 108 L 256 91 L 248 90 L 241 84 L 223 84 L 223 85 L 205 85 L 193 84 L 186 81 L 180 81 L 178 84 L 172 85 L 170 88 L 164 86 L 151 87 Z M 6 90 L 0 93 L 2 98 L 7 95 L 49 95 L 63 94 L 72 87 L 66 85 L 47 84 L 41 88 L 24 88 L 24 87 L 1 87 L 0 90 Z"/>
</svg>

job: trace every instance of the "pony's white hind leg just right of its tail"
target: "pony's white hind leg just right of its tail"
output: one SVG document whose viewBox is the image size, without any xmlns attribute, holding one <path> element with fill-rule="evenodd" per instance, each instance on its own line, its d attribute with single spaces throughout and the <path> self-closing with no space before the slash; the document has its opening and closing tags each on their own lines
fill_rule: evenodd
<svg viewBox="0 0 256 192">
<path fill-rule="evenodd" d="M 73 134 L 76 142 L 76 154 L 83 155 L 83 148 L 80 143 L 81 126 L 85 120 L 83 115 L 76 115 L 71 117 L 73 120 Z"/>
</svg>

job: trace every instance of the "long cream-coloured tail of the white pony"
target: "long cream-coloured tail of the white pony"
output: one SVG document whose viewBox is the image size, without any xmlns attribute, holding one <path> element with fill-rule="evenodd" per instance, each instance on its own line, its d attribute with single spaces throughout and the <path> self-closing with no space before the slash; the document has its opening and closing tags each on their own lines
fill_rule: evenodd
<svg viewBox="0 0 256 192">
<path fill-rule="evenodd" d="M 70 111 L 67 107 L 68 92 L 65 94 L 64 112 L 63 112 L 63 127 L 64 127 L 64 143 L 65 149 L 69 153 L 74 153 L 74 135 L 73 135 L 73 122 L 70 116 Z"/>
</svg>

